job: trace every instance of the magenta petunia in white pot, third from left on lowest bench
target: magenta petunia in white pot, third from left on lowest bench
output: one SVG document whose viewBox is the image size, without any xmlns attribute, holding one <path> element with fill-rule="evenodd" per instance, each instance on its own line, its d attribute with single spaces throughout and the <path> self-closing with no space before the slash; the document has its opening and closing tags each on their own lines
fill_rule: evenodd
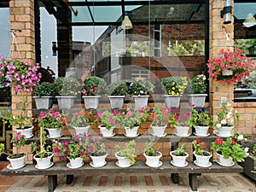
<svg viewBox="0 0 256 192">
<path fill-rule="evenodd" d="M 88 154 L 88 148 L 84 148 L 80 143 L 88 143 L 86 141 L 87 135 L 75 134 L 69 141 L 59 142 L 55 141 L 55 153 L 60 153 L 61 157 L 67 157 L 69 162 L 67 167 L 76 169 L 84 165 L 84 157 Z"/>
</svg>

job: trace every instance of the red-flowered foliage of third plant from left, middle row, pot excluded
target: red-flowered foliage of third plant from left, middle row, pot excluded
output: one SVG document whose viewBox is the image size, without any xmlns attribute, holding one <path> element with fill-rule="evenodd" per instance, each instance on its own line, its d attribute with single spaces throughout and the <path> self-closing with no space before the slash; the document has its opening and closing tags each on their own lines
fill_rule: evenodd
<svg viewBox="0 0 256 192">
<path fill-rule="evenodd" d="M 73 114 L 70 125 L 73 127 L 83 127 L 93 125 L 93 122 L 90 122 L 91 111 L 86 111 L 84 108 L 78 113 Z"/>
</svg>

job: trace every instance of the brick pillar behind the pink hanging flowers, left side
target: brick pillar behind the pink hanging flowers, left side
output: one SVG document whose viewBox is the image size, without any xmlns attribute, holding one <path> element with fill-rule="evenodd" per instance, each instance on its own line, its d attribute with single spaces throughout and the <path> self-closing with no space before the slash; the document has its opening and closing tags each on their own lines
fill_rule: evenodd
<svg viewBox="0 0 256 192">
<path fill-rule="evenodd" d="M 34 34 L 34 1 L 33 0 L 10 0 L 10 29 L 11 32 L 11 54 L 14 60 L 35 62 L 35 34 Z M 15 32 L 15 34 L 14 34 Z M 15 36 L 14 36 L 15 35 Z M 14 39 L 15 38 L 15 39 Z M 26 97 L 26 114 L 32 116 L 32 93 L 16 93 L 12 91 L 13 113 L 20 113 L 20 101 Z M 15 131 L 15 127 L 13 127 Z M 29 146 L 22 148 L 24 152 L 29 151 Z M 14 148 L 15 151 L 15 148 Z M 32 156 L 29 157 L 32 160 Z"/>
</svg>

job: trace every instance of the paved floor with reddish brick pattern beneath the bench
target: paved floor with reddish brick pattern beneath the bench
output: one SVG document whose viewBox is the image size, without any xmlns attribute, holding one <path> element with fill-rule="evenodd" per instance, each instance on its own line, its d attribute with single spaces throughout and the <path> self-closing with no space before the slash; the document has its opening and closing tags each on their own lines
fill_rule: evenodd
<svg viewBox="0 0 256 192">
<path fill-rule="evenodd" d="M 0 169 L 9 162 L 0 162 Z M 55 192 L 190 192 L 188 175 L 180 174 L 180 183 L 173 184 L 169 174 L 125 174 L 74 177 L 67 185 L 58 177 Z M 256 184 L 239 173 L 202 174 L 198 177 L 199 192 L 256 192 Z M 46 192 L 47 177 L 5 177 L 0 175 L 0 192 Z"/>
</svg>

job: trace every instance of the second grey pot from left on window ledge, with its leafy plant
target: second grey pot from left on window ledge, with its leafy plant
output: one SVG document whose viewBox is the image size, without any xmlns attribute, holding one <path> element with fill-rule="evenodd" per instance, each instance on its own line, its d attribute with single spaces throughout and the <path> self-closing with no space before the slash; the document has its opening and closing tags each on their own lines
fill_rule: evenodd
<svg viewBox="0 0 256 192">
<path fill-rule="evenodd" d="M 62 108 L 73 108 L 75 98 L 79 93 L 79 86 L 76 79 L 58 77 L 55 80 L 58 106 Z"/>
</svg>

